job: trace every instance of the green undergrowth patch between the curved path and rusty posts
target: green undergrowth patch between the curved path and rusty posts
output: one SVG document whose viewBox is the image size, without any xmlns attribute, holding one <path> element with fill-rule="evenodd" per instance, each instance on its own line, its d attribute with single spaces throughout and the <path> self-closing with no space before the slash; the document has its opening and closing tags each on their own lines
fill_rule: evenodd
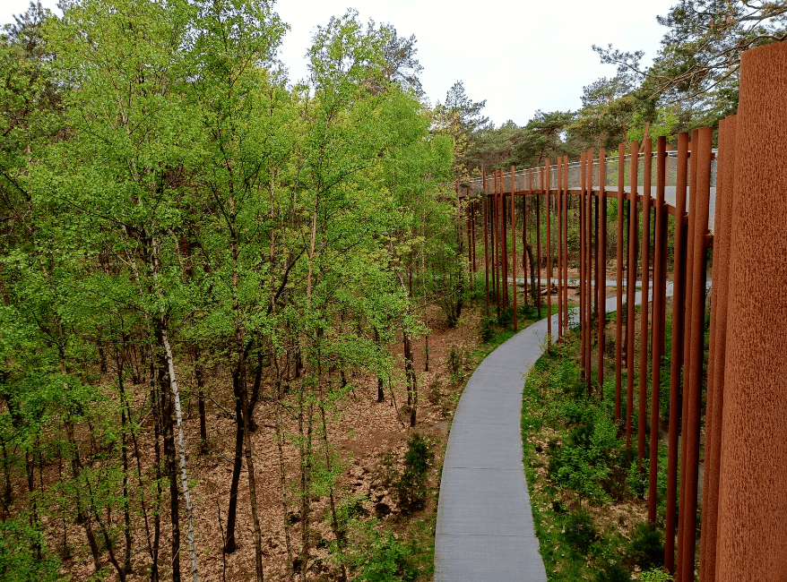
<svg viewBox="0 0 787 582">
<path fill-rule="evenodd" d="M 669 580 L 663 524 L 646 520 L 646 472 L 612 420 L 614 380 L 604 398 L 588 395 L 576 338 L 566 339 L 534 364 L 523 390 L 523 462 L 547 577 Z"/>
</svg>

